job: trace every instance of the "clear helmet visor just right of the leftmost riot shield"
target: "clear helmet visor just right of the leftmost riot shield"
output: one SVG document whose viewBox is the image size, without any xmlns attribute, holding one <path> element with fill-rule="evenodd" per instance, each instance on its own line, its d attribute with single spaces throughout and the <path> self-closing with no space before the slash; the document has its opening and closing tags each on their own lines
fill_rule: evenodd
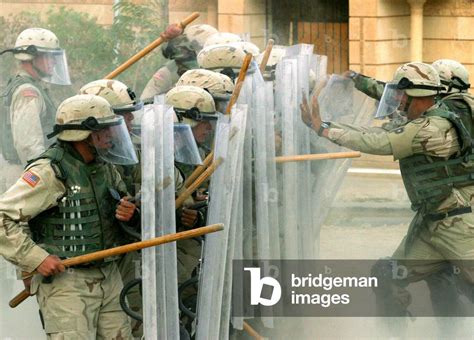
<svg viewBox="0 0 474 340">
<path fill-rule="evenodd" d="M 184 164 L 202 164 L 191 127 L 187 124 L 174 124 L 174 158 Z"/>
</svg>

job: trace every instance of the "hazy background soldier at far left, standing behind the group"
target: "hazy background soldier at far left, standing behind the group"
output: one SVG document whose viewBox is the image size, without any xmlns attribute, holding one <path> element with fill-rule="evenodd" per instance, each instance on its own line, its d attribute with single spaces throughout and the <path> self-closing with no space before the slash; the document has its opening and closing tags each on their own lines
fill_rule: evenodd
<svg viewBox="0 0 474 340">
<path fill-rule="evenodd" d="M 2 93 L 0 117 L 3 183 L 0 193 L 12 185 L 26 161 L 37 157 L 50 142 L 46 134 L 54 124 L 56 106 L 46 83 L 69 85 L 64 50 L 56 35 L 46 29 L 29 28 L 7 50 L 19 60 L 20 70 Z"/>
</svg>

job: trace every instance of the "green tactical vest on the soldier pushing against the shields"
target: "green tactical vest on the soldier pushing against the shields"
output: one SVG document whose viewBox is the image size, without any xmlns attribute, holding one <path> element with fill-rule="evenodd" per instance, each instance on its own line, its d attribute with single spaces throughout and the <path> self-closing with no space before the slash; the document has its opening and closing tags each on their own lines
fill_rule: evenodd
<svg viewBox="0 0 474 340">
<path fill-rule="evenodd" d="M 412 209 L 432 213 L 452 194 L 453 188 L 474 185 L 474 155 L 471 136 L 459 116 L 440 108 L 427 112 L 425 116 L 448 119 L 456 129 L 461 145 L 460 155 L 453 155 L 448 160 L 420 154 L 400 160 L 400 171 Z"/>
</svg>

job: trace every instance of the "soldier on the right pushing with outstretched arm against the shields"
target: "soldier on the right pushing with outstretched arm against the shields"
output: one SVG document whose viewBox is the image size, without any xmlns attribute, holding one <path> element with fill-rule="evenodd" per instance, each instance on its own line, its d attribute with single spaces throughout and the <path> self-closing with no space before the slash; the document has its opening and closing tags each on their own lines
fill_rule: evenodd
<svg viewBox="0 0 474 340">
<path fill-rule="evenodd" d="M 408 63 L 396 75 L 398 81 L 384 90 L 393 90 L 395 95 L 384 94 L 389 100 L 379 106 L 379 113 L 388 108 L 387 114 L 404 108 L 408 122 L 394 130 L 373 132 L 321 122 L 316 101 L 312 117 L 302 106 L 303 120 L 320 136 L 338 145 L 370 154 L 391 154 L 400 160 L 402 178 L 416 216 L 392 258 L 408 268 L 408 282 L 446 270 L 449 261 L 460 268 L 466 294 L 472 298 L 474 268 L 472 261 L 463 262 L 474 259 L 474 215 L 470 207 L 474 170 L 463 165 L 472 158 L 469 132 L 459 117 L 436 103 L 435 97 L 442 87 L 432 66 Z M 395 103 L 397 98 L 400 105 Z M 373 274 L 390 278 L 390 270 L 380 262 L 373 268 Z M 406 315 L 408 293 L 395 283 L 391 286 L 396 288 L 376 291 L 380 306 L 385 315 Z"/>
</svg>

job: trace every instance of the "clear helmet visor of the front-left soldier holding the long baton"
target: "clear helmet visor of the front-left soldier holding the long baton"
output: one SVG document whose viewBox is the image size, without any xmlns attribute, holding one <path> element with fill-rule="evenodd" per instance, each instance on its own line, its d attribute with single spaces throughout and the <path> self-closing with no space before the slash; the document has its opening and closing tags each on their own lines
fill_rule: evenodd
<svg viewBox="0 0 474 340">
<path fill-rule="evenodd" d="M 91 133 L 92 144 L 104 161 L 118 164 L 137 164 L 138 158 L 130 139 L 130 134 L 122 117 L 116 116 L 113 122 Z"/>
</svg>

